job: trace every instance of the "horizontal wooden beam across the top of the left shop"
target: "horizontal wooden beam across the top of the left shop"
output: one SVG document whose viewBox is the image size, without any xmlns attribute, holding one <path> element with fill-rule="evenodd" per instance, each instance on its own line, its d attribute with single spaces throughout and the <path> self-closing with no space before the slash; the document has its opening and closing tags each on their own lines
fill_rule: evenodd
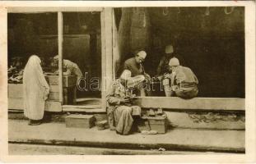
<svg viewBox="0 0 256 164">
<path fill-rule="evenodd" d="M 102 11 L 103 7 L 7 7 L 8 13 L 44 13 L 44 12 L 86 12 Z"/>
</svg>

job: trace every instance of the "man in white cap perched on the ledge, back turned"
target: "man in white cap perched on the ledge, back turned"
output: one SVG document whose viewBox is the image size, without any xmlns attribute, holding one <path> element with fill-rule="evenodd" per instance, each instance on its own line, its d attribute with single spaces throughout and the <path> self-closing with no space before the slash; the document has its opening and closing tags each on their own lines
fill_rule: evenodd
<svg viewBox="0 0 256 164">
<path fill-rule="evenodd" d="M 179 98 L 194 98 L 198 95 L 198 78 L 189 67 L 179 66 L 176 57 L 170 59 L 170 92 Z M 168 86 L 168 85 L 167 85 Z"/>
</svg>

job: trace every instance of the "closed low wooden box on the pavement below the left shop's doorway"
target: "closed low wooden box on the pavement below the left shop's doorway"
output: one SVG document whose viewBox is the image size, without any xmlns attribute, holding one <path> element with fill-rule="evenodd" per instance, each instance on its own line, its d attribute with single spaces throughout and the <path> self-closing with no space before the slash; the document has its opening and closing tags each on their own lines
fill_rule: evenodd
<svg viewBox="0 0 256 164">
<path fill-rule="evenodd" d="M 95 125 L 95 117 L 92 115 L 69 115 L 65 117 L 66 127 L 89 129 Z"/>
</svg>

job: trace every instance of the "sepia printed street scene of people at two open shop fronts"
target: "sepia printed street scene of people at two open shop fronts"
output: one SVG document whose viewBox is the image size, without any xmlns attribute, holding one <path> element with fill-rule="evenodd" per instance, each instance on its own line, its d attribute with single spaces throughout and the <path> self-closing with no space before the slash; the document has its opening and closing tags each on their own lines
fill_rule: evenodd
<svg viewBox="0 0 256 164">
<path fill-rule="evenodd" d="M 7 155 L 248 153 L 254 7 L 230 3 L 6 7 Z"/>
</svg>

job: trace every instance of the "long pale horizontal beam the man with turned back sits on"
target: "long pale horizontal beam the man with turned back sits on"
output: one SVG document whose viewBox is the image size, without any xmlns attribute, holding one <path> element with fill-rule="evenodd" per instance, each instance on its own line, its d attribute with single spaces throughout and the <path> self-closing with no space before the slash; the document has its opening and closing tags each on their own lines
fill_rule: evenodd
<svg viewBox="0 0 256 164">
<path fill-rule="evenodd" d="M 244 111 L 244 98 L 170 98 L 170 97 L 137 97 L 134 104 L 145 108 L 166 108 L 177 110 L 228 110 Z"/>
</svg>

